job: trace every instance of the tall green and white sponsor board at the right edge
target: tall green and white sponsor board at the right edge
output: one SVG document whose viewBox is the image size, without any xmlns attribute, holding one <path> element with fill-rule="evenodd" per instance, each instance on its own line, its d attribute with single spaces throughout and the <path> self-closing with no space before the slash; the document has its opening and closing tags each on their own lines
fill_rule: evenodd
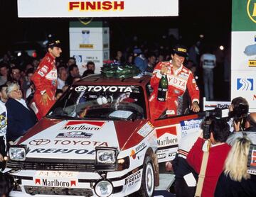
<svg viewBox="0 0 256 197">
<path fill-rule="evenodd" d="M 256 111 L 256 0 L 233 0 L 231 99 L 242 96 Z"/>
</svg>

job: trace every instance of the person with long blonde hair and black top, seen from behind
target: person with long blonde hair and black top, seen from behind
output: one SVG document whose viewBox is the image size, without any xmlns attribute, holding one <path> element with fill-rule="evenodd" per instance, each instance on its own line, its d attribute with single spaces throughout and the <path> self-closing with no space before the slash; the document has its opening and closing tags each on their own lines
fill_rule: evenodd
<svg viewBox="0 0 256 197">
<path fill-rule="evenodd" d="M 250 140 L 247 137 L 235 140 L 225 160 L 224 171 L 218 179 L 216 197 L 256 196 L 256 176 L 247 172 L 249 148 Z"/>
</svg>

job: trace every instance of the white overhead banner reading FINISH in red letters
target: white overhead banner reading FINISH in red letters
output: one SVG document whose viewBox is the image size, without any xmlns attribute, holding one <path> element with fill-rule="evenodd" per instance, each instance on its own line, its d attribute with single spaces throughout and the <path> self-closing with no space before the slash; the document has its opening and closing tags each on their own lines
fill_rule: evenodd
<svg viewBox="0 0 256 197">
<path fill-rule="evenodd" d="M 178 0 L 18 0 L 18 17 L 178 16 Z"/>
</svg>

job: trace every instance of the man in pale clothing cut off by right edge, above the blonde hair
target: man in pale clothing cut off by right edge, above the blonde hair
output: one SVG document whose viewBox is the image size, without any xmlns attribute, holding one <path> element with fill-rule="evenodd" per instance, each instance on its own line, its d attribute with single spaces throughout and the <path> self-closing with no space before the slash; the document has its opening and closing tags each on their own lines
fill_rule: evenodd
<svg viewBox="0 0 256 197">
<path fill-rule="evenodd" d="M 247 136 L 252 141 L 252 144 L 256 145 L 256 113 L 250 113 L 245 122 L 245 130 L 233 132 L 227 140 L 229 145 L 233 145 L 238 137 Z"/>
</svg>

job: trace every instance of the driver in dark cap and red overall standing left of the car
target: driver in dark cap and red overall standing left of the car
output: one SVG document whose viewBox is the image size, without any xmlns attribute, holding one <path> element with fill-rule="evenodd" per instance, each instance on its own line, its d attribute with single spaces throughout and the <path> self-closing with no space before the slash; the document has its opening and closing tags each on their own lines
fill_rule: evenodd
<svg viewBox="0 0 256 197">
<path fill-rule="evenodd" d="M 48 110 L 55 103 L 55 91 L 57 89 L 57 69 L 55 66 L 55 58 L 60 57 L 62 52 L 60 48 L 60 40 L 48 42 L 48 52 L 39 64 L 36 72 L 31 78 L 36 86 L 34 101 L 36 103 L 36 116 L 38 120 L 46 116 Z"/>
</svg>

